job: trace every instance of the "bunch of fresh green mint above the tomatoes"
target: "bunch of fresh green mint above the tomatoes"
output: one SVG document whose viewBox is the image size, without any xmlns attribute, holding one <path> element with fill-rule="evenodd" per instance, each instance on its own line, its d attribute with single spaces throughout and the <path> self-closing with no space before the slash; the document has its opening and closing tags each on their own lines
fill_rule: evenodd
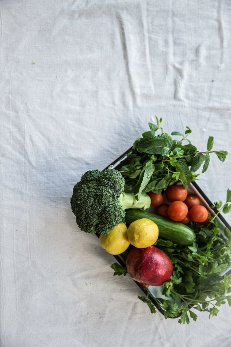
<svg viewBox="0 0 231 347">
<path fill-rule="evenodd" d="M 137 138 L 132 150 L 117 167 L 123 175 L 127 189 L 132 190 L 139 200 L 143 192 L 161 193 L 168 186 L 180 181 L 185 188 L 197 180 L 196 171 L 202 166 L 206 172 L 210 163 L 211 153 L 215 153 L 220 161 L 224 161 L 228 152 L 212 150 L 214 138 L 210 136 L 206 151 L 198 151 L 188 139 L 192 130 L 187 126 L 185 134 L 164 133 L 161 127 L 162 118 L 157 125 L 149 122 L 150 130 Z M 157 135 L 158 130 L 160 134 Z M 172 136 L 181 136 L 180 140 Z M 183 142 L 187 144 L 183 144 Z"/>
</svg>

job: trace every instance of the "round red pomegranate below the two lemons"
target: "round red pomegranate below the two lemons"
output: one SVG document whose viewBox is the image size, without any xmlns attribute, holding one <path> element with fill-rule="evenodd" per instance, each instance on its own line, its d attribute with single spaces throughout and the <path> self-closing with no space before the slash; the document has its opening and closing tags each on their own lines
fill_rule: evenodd
<svg viewBox="0 0 231 347">
<path fill-rule="evenodd" d="M 127 255 L 126 268 L 129 276 L 145 288 L 161 286 L 169 280 L 173 271 L 169 256 L 154 246 L 134 247 Z"/>
</svg>

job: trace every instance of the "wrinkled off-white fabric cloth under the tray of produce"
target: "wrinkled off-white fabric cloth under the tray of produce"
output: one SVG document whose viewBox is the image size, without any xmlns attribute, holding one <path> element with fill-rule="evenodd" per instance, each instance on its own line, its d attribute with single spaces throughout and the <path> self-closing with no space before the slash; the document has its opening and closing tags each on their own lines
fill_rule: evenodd
<svg viewBox="0 0 231 347">
<path fill-rule="evenodd" d="M 229 0 L 0 1 L 1 347 L 230 346 L 228 304 L 189 325 L 152 315 L 70 208 L 155 115 L 230 151 L 230 18 Z M 211 154 L 212 202 L 230 171 Z"/>
</svg>

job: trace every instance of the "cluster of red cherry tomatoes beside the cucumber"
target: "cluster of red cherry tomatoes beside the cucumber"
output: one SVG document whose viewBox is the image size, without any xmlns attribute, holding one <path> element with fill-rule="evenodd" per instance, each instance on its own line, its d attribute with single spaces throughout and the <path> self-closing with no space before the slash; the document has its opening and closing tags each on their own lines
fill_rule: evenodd
<svg viewBox="0 0 231 347">
<path fill-rule="evenodd" d="M 151 206 L 156 208 L 156 214 L 184 224 L 188 224 L 192 220 L 206 225 L 210 221 L 210 212 L 201 205 L 199 197 L 188 194 L 183 185 L 169 186 L 164 194 L 165 196 L 161 193 L 148 193 L 151 198 Z"/>
</svg>

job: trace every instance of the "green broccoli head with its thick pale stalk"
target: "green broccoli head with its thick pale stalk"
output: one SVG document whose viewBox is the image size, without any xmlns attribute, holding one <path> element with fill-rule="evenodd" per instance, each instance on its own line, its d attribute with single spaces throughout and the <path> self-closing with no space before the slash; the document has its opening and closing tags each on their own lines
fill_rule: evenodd
<svg viewBox="0 0 231 347">
<path fill-rule="evenodd" d="M 75 184 L 71 197 L 72 212 L 82 231 L 107 235 L 125 217 L 125 209 L 150 207 L 143 193 L 137 201 L 133 193 L 124 193 L 124 178 L 116 169 L 89 170 Z"/>
</svg>

